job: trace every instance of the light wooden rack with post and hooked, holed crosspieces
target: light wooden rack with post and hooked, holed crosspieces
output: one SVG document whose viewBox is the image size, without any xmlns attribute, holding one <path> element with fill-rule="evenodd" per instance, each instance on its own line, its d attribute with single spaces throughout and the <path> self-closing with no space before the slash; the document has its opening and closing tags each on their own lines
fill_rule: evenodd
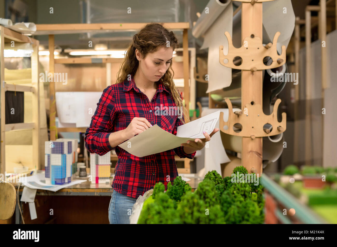
<svg viewBox="0 0 337 247">
<path fill-rule="evenodd" d="M 229 115 L 228 122 L 223 121 L 220 113 L 220 130 L 231 135 L 242 136 L 241 164 L 248 172 L 262 174 L 262 137 L 280 134 L 286 129 L 286 114 L 282 113 L 282 122 L 277 121 L 277 108 L 281 100 L 274 105 L 271 115 L 265 115 L 262 110 L 262 70 L 277 68 L 285 63 L 285 46 L 282 53 L 277 54 L 276 43 L 280 33 L 276 32 L 273 44 L 262 44 L 262 2 L 274 0 L 238 0 L 242 2 L 241 13 L 241 39 L 242 46 L 235 48 L 229 33 L 228 54 L 223 55 L 223 46 L 219 47 L 219 61 L 225 67 L 241 69 L 241 106 L 242 112 L 233 113 L 231 101 L 226 98 Z M 242 58 L 242 65 L 237 66 L 233 59 Z M 263 58 L 270 56 L 273 63 L 269 66 L 263 64 Z M 233 130 L 233 125 L 242 125 L 240 132 Z M 271 124 L 273 129 L 268 132 L 263 129 L 264 124 Z M 225 128 L 224 128 L 225 127 Z"/>
</svg>

